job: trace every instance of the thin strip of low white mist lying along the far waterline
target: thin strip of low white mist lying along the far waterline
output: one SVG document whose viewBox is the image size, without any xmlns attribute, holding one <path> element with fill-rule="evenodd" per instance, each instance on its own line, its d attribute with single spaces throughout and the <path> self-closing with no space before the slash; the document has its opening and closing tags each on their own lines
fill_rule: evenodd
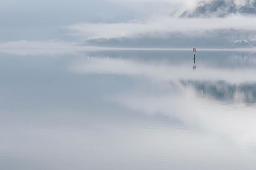
<svg viewBox="0 0 256 170">
<path fill-rule="evenodd" d="M 15 54 L 21 56 L 43 55 L 54 56 L 62 54 L 77 54 L 86 51 L 191 51 L 190 48 L 126 48 L 126 47 L 98 47 L 88 46 L 78 42 L 65 42 L 57 40 L 49 41 L 10 41 L 0 43 L 0 53 Z M 210 49 L 198 48 L 199 51 L 237 51 L 256 52 L 256 48 L 223 48 Z M 116 62 L 116 61 L 115 61 Z"/>
</svg>

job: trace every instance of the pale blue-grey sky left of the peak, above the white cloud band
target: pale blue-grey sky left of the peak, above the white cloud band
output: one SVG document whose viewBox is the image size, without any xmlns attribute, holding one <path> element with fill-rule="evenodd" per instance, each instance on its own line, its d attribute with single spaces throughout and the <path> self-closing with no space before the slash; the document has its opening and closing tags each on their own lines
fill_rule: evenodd
<svg viewBox="0 0 256 170">
<path fill-rule="evenodd" d="M 1 42 L 74 40 L 67 27 L 77 23 L 119 23 L 169 15 L 191 1 L 173 0 L 3 0 L 0 1 Z M 72 30 L 73 31 L 73 30 Z"/>
</svg>

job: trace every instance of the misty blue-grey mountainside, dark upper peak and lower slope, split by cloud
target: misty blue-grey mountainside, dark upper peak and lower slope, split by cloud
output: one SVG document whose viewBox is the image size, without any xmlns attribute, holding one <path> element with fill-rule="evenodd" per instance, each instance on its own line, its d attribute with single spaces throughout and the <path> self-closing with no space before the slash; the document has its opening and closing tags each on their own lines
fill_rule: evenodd
<svg viewBox="0 0 256 170">
<path fill-rule="evenodd" d="M 179 10 L 177 10 L 179 11 Z M 229 18 L 236 18 L 237 25 L 243 25 L 240 23 L 244 18 L 254 19 L 256 17 L 256 0 L 211 0 L 211 1 L 201 1 L 195 5 L 193 9 L 188 9 L 185 11 L 180 11 L 175 14 L 169 15 L 169 21 L 163 23 L 170 25 L 172 19 L 179 19 L 186 23 L 186 20 L 191 19 L 191 23 L 187 25 L 182 25 L 182 22 L 178 24 L 182 25 L 181 28 L 187 28 L 186 32 L 172 31 L 170 26 L 170 31 L 162 33 L 158 30 L 153 30 L 151 32 L 141 31 L 134 35 L 123 35 L 117 37 L 96 37 L 88 38 L 85 41 L 87 45 L 96 46 L 121 46 L 121 47 L 191 47 L 198 46 L 204 48 L 238 48 L 245 47 L 251 48 L 256 46 L 256 32 L 255 29 L 244 26 L 243 28 L 236 28 L 230 26 L 230 28 L 210 28 L 210 25 L 215 26 L 215 22 L 211 22 L 211 19 L 225 20 Z M 239 18 L 239 17 L 242 17 Z M 162 18 L 158 18 L 161 20 Z M 163 18 L 164 19 L 164 18 Z M 200 19 L 204 19 L 200 21 Z M 193 23 L 193 20 L 198 20 Z M 236 19 L 233 19 L 233 21 Z M 207 23 L 206 23 L 207 21 Z M 199 23 L 199 24 L 198 24 Z M 161 24 L 161 23 L 159 23 Z M 199 28 L 193 30 L 193 24 Z M 251 23 L 253 24 L 253 22 Z M 174 27 L 176 22 L 174 22 Z M 200 26 L 202 25 L 202 30 Z M 204 29 L 205 26 L 207 29 Z M 220 24 L 221 25 L 221 24 Z M 150 27 L 150 26 L 149 26 Z M 191 31 L 189 31 L 191 28 Z M 122 30 L 118 30 L 121 31 Z"/>
</svg>

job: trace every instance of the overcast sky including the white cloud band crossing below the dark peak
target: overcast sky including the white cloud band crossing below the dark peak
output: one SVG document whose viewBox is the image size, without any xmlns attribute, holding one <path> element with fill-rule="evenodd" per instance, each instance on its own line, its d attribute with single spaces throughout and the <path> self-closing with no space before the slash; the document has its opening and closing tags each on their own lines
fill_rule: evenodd
<svg viewBox="0 0 256 170">
<path fill-rule="evenodd" d="M 3 0 L 0 42 L 83 41 L 172 31 L 256 29 L 255 17 L 180 19 L 197 0 Z M 243 0 L 237 0 L 242 3 Z"/>
</svg>

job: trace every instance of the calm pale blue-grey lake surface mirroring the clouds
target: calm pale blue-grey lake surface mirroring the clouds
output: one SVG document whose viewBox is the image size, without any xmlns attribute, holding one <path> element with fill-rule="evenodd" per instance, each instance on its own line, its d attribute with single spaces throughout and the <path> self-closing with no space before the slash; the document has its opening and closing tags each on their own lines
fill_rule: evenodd
<svg viewBox="0 0 256 170">
<path fill-rule="evenodd" d="M 0 169 L 256 169 L 256 54 L 193 55 L 0 53 Z"/>
</svg>

